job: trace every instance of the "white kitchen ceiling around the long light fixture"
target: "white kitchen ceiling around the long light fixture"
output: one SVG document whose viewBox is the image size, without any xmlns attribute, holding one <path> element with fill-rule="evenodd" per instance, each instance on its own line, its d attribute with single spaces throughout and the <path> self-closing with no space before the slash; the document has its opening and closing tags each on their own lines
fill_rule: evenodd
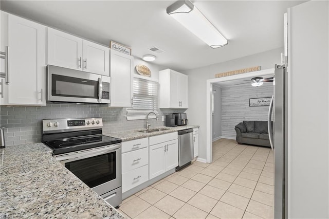
<svg viewBox="0 0 329 219">
<path fill-rule="evenodd" d="M 166 13 L 175 1 L 1 1 L 1 9 L 178 71 L 283 47 L 283 14 L 304 1 L 193 1 L 228 39 L 212 49 Z M 157 46 L 165 52 L 148 49 Z"/>
</svg>

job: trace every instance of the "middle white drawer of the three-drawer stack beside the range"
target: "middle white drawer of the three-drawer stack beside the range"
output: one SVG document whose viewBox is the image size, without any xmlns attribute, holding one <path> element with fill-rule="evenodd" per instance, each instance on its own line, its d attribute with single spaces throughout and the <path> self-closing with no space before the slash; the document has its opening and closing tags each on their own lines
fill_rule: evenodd
<svg viewBox="0 0 329 219">
<path fill-rule="evenodd" d="M 149 163 L 148 148 L 122 154 L 122 173 L 129 172 Z"/>
</svg>

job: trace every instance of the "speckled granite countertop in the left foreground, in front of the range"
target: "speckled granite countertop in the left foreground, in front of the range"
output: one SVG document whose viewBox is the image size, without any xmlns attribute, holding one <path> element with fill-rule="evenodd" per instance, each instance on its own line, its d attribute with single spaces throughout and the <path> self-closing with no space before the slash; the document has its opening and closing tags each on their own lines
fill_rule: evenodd
<svg viewBox="0 0 329 219">
<path fill-rule="evenodd" d="M 0 149 L 1 218 L 123 218 L 43 143 Z"/>
</svg>

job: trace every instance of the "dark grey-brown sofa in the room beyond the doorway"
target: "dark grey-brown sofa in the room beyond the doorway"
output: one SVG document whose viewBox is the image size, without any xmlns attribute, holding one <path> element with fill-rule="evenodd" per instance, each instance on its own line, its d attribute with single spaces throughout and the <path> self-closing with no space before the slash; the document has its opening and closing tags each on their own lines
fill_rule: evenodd
<svg viewBox="0 0 329 219">
<path fill-rule="evenodd" d="M 271 122 L 273 127 L 273 122 Z M 235 125 L 236 142 L 271 147 L 267 121 L 243 121 Z M 273 134 L 273 133 L 272 133 Z"/>
</svg>

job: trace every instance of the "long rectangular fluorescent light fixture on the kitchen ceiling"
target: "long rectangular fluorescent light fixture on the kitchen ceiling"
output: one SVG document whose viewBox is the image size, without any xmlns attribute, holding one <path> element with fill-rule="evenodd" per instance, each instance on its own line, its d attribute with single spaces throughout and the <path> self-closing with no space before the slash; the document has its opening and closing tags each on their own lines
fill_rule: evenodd
<svg viewBox="0 0 329 219">
<path fill-rule="evenodd" d="M 167 14 L 213 49 L 228 43 L 220 31 L 190 1 L 175 2 L 167 8 Z"/>
</svg>

